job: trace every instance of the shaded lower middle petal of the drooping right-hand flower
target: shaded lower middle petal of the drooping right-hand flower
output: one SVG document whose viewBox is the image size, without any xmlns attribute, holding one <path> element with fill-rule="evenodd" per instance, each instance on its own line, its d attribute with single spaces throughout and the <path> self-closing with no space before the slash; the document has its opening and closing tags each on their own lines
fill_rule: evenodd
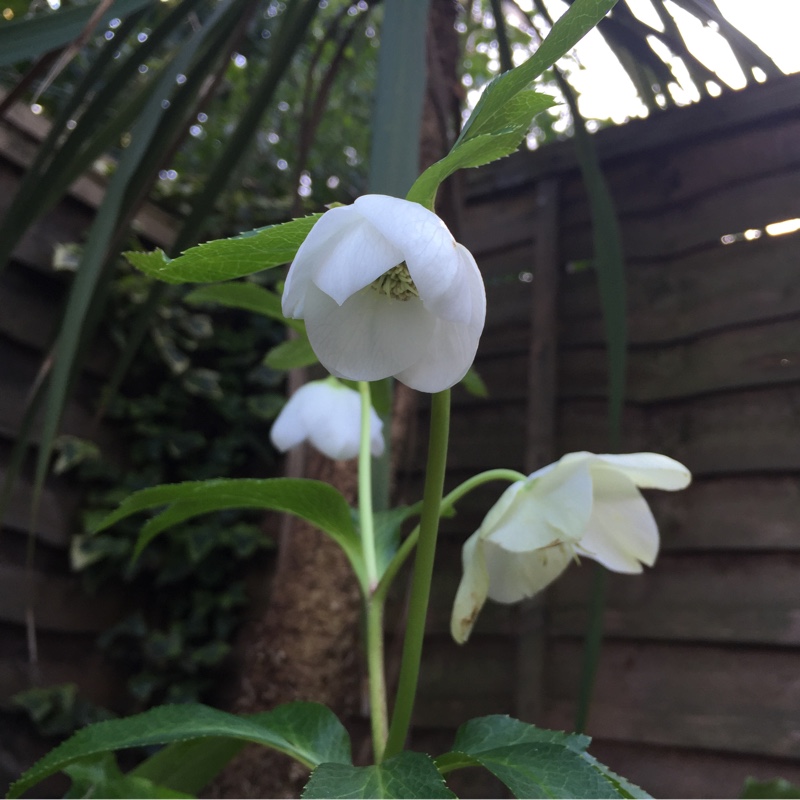
<svg viewBox="0 0 800 800">
<path fill-rule="evenodd" d="M 569 565 L 572 547 L 554 545 L 528 552 L 512 552 L 484 541 L 489 573 L 489 597 L 498 603 L 516 603 L 549 586 Z"/>
</svg>

